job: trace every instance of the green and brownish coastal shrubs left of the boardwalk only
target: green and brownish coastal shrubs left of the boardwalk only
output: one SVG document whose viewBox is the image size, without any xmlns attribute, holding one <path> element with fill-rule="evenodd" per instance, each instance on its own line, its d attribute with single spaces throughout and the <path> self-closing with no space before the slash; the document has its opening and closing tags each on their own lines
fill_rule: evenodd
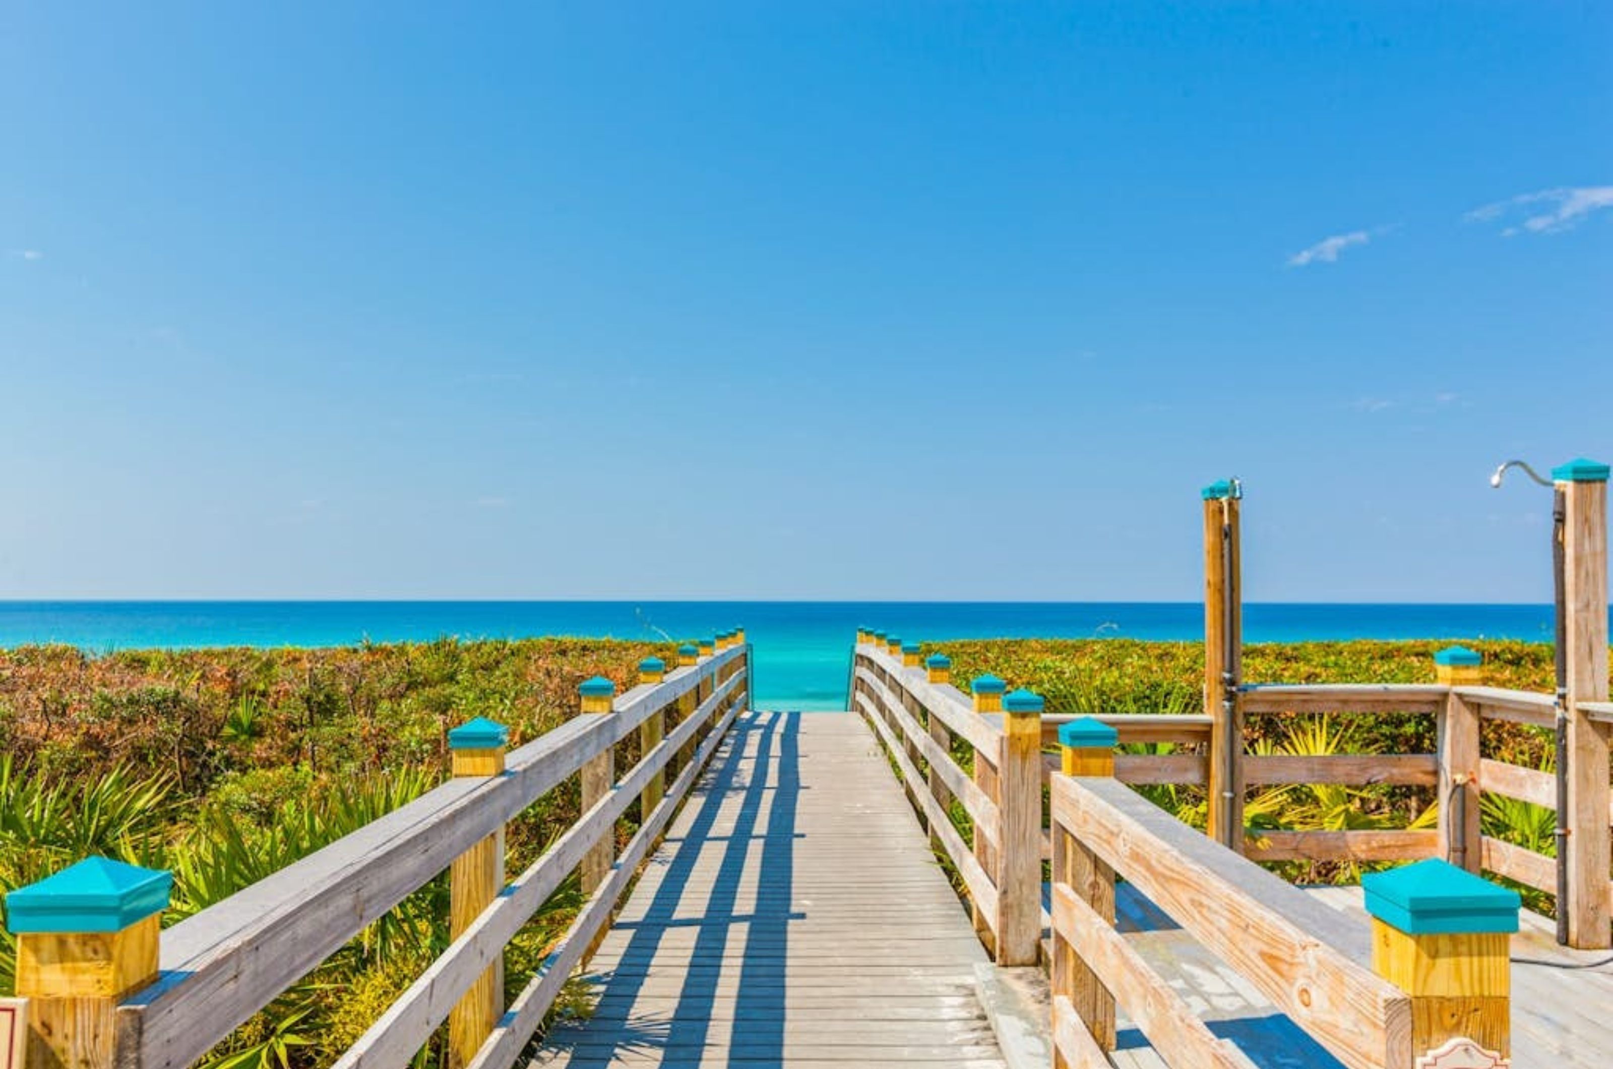
<svg viewBox="0 0 1613 1069">
<path fill-rule="evenodd" d="M 624 690 L 648 656 L 674 662 L 676 646 L 545 638 L 100 657 L 68 646 L 0 651 L 0 893 L 105 854 L 173 870 L 163 919 L 173 924 L 442 783 L 448 728 L 490 717 L 519 746 L 576 715 L 584 678 Z M 513 820 L 510 870 L 579 812 L 573 780 Z M 508 998 L 581 904 L 574 882 L 561 887 L 510 945 Z M 10 993 L 16 953 L 11 935 L 0 938 L 0 993 Z M 206 1064 L 331 1064 L 447 943 L 439 877 Z M 421 1066 L 440 1063 L 439 1037 Z"/>
</svg>

